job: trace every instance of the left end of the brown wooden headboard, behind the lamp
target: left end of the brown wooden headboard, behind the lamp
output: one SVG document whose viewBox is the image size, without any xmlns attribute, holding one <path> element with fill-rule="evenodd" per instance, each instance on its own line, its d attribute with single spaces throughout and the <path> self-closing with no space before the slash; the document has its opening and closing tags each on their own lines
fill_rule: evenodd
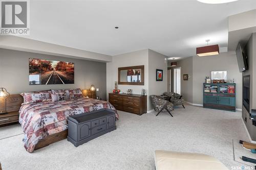
<svg viewBox="0 0 256 170">
<path fill-rule="evenodd" d="M 7 111 L 17 111 L 23 103 L 23 96 L 20 94 L 10 94 L 6 100 Z M 5 110 L 5 98 L 0 98 L 0 110 Z"/>
</svg>

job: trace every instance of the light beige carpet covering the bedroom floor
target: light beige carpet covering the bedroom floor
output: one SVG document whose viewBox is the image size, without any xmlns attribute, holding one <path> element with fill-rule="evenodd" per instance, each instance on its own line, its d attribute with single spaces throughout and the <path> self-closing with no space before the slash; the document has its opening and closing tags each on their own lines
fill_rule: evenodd
<svg viewBox="0 0 256 170">
<path fill-rule="evenodd" d="M 177 107 L 174 117 L 118 111 L 117 130 L 77 148 L 62 140 L 32 154 L 23 147 L 18 125 L 0 128 L 0 162 L 4 170 L 154 169 L 154 151 L 170 150 L 212 155 L 229 169 L 245 165 L 239 156 L 248 156 L 249 151 L 236 144 L 236 159 L 242 162 L 238 163 L 232 147 L 232 140 L 248 141 L 241 112 L 185 107 Z M 8 134 L 12 137 L 6 138 Z"/>
</svg>

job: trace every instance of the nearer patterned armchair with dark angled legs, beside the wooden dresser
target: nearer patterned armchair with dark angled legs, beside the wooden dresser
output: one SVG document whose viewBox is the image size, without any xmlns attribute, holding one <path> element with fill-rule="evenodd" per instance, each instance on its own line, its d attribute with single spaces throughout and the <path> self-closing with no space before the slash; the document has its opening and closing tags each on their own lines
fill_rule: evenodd
<svg viewBox="0 0 256 170">
<path fill-rule="evenodd" d="M 158 95 L 151 95 L 151 101 L 152 101 L 154 110 L 158 112 L 157 115 L 161 111 L 163 112 L 167 111 L 173 117 L 173 115 L 170 113 L 170 111 L 172 111 L 174 107 L 172 103 L 160 98 Z"/>
</svg>

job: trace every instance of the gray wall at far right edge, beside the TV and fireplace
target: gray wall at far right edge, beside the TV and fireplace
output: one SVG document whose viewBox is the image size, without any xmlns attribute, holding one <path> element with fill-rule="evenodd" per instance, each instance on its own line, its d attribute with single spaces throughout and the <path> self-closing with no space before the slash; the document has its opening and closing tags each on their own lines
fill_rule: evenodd
<svg viewBox="0 0 256 170">
<path fill-rule="evenodd" d="M 256 33 L 253 33 L 245 46 L 248 56 L 249 69 L 243 72 L 243 76 L 250 75 L 250 111 L 256 109 Z M 256 141 L 256 127 L 249 119 L 249 113 L 243 107 L 242 117 L 252 140 Z M 247 117 L 247 122 L 245 118 Z"/>
</svg>

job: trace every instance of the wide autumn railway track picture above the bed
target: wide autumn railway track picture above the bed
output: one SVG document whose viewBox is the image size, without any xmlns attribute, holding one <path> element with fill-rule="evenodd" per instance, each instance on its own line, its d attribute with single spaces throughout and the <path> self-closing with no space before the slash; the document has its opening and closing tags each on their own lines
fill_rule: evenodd
<svg viewBox="0 0 256 170">
<path fill-rule="evenodd" d="M 29 59 L 29 85 L 74 84 L 74 63 Z"/>
</svg>

